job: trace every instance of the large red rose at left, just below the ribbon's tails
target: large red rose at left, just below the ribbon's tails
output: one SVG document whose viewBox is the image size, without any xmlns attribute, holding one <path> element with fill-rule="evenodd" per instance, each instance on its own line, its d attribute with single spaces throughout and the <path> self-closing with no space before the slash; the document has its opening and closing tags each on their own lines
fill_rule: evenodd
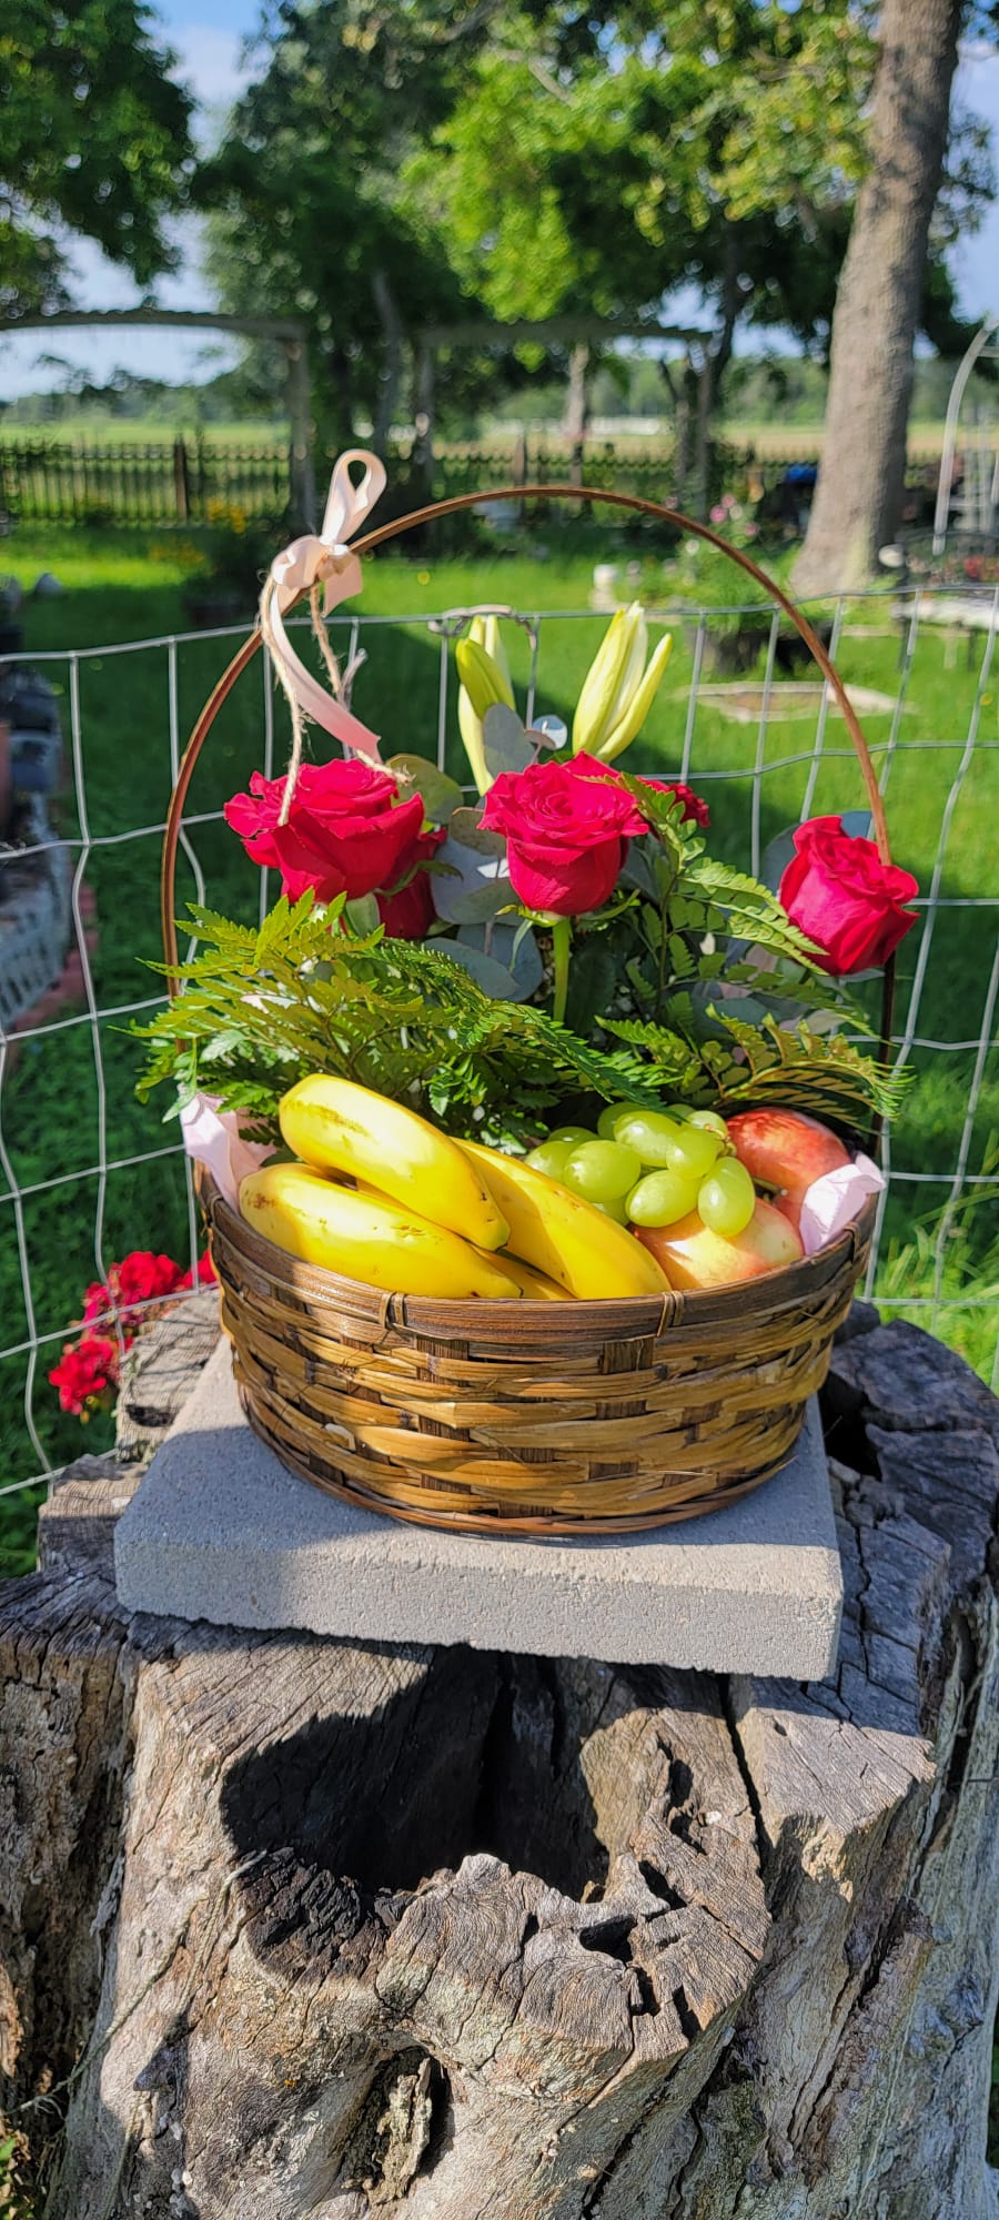
<svg viewBox="0 0 999 2220">
<path fill-rule="evenodd" d="M 302 764 L 280 826 L 284 784 L 255 770 L 249 795 L 233 795 L 222 815 L 253 864 L 280 870 L 289 901 L 309 886 L 320 901 L 355 901 L 400 877 L 400 859 L 424 821 L 420 795 L 400 801 L 395 779 L 360 757 Z"/>
</svg>

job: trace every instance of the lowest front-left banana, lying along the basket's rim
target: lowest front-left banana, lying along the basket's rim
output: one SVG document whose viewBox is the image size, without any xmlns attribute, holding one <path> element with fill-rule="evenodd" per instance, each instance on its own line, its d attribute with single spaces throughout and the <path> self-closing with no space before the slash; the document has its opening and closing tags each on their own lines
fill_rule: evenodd
<svg viewBox="0 0 999 2220">
<path fill-rule="evenodd" d="M 340 1188 L 306 1163 L 264 1163 L 251 1172 L 240 1188 L 240 1217 L 289 1257 L 384 1294 L 519 1299 L 515 1276 L 471 1241 L 415 1210 Z"/>
</svg>

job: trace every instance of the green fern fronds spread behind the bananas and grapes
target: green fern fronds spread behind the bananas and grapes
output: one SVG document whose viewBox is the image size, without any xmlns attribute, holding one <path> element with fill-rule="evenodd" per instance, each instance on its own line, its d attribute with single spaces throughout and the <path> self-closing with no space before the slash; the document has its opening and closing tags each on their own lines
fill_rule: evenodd
<svg viewBox="0 0 999 2220">
<path fill-rule="evenodd" d="M 655 1108 L 799 1106 L 846 1126 L 895 1108 L 897 1083 L 844 1035 L 770 1017 L 748 1026 L 684 988 L 662 1019 L 597 1019 L 582 1037 L 526 1001 L 495 1001 L 446 944 L 353 935 L 340 904 L 280 899 L 262 928 L 191 910 L 198 952 L 149 1026 L 140 1094 L 173 1081 L 273 1137 L 278 1103 L 306 1072 L 337 1072 L 406 1101 L 448 1132 L 524 1141 L 586 1097 Z M 162 966 L 160 966 L 162 968 Z M 167 1114 L 175 1114 L 178 1099 Z"/>
</svg>

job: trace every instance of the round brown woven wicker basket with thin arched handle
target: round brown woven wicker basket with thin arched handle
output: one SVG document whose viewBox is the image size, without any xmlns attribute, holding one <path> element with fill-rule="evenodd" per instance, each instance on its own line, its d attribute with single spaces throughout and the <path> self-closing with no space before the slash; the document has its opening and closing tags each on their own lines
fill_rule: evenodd
<svg viewBox="0 0 999 2220">
<path fill-rule="evenodd" d="M 881 795 L 846 688 L 788 597 L 708 526 L 584 486 L 515 500 L 610 500 L 662 517 L 757 577 L 835 693 L 890 861 Z M 357 553 L 495 493 L 440 502 L 355 542 Z M 175 963 L 173 879 L 184 797 L 211 724 L 251 662 L 253 633 L 191 735 L 164 839 L 162 926 Z M 892 970 L 881 1037 L 890 1039 Z M 446 1303 L 380 1294 L 297 1263 L 209 1179 L 202 1203 L 240 1399 L 284 1465 L 364 1510 L 497 1534 L 626 1534 L 719 1510 L 784 1465 L 833 1334 L 864 1272 L 875 1203 L 819 1254 L 713 1292 L 588 1303 Z"/>
</svg>

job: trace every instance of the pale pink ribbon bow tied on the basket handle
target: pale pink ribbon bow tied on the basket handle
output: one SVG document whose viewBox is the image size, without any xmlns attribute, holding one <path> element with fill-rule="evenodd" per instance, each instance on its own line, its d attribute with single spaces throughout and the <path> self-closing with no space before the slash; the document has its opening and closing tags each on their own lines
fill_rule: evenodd
<svg viewBox="0 0 999 2220">
<path fill-rule="evenodd" d="M 364 477 L 360 484 L 351 477 L 351 462 L 364 464 Z M 366 755 L 371 764 L 382 761 L 377 733 L 371 733 L 360 717 L 353 717 L 342 702 L 313 679 L 295 655 L 282 619 L 293 602 L 297 602 L 302 593 L 311 593 L 315 586 L 324 588 L 324 617 L 329 617 L 331 608 L 337 608 L 340 602 L 360 593 L 360 557 L 351 553 L 346 542 L 353 537 L 357 526 L 364 524 L 384 488 L 386 473 L 377 455 L 369 455 L 362 446 L 346 448 L 346 453 L 333 464 L 322 533 L 304 533 L 302 539 L 293 539 L 291 546 L 275 557 L 264 579 L 264 591 L 260 595 L 260 630 L 271 648 L 284 693 L 289 695 L 295 735 L 284 793 L 286 806 L 291 806 L 291 793 L 297 777 L 304 717 L 322 724 L 324 733 L 340 739 L 344 748 L 353 748 L 355 755 Z"/>
</svg>

